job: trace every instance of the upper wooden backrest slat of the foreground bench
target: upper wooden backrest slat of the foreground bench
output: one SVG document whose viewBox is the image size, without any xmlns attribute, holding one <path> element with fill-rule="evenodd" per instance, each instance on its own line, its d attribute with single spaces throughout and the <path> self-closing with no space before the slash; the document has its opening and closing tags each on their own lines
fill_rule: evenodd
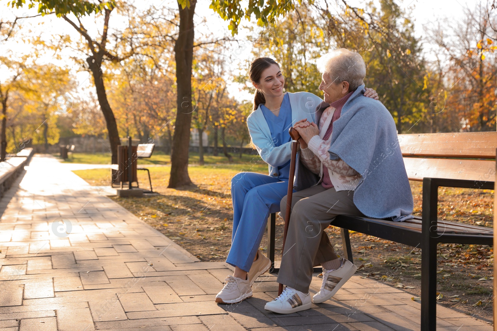
<svg viewBox="0 0 497 331">
<path fill-rule="evenodd" d="M 404 156 L 495 159 L 497 132 L 399 134 Z"/>
</svg>

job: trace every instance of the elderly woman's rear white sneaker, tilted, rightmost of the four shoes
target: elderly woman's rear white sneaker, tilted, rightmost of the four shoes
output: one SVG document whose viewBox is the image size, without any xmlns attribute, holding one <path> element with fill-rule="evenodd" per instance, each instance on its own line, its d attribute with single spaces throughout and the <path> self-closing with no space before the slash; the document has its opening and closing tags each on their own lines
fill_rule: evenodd
<svg viewBox="0 0 497 331">
<path fill-rule="evenodd" d="M 343 258 L 338 269 L 327 270 L 323 268 L 323 283 L 321 285 L 321 290 L 313 296 L 312 302 L 322 303 L 330 299 L 340 287 L 352 277 L 356 270 L 357 266 Z"/>
</svg>

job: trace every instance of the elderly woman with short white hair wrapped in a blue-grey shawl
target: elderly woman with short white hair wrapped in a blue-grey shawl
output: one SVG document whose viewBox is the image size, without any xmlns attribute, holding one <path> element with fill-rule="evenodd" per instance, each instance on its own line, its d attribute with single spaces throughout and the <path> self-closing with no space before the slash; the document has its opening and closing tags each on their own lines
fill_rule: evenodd
<svg viewBox="0 0 497 331">
<path fill-rule="evenodd" d="M 393 221 L 413 217 L 413 196 L 395 122 L 381 102 L 362 94 L 363 59 L 358 53 L 339 49 L 319 59 L 318 68 L 325 99 L 315 114 L 319 125 L 301 122 L 294 128 L 304 140 L 301 161 L 319 174 L 319 180 L 293 194 L 278 274 L 278 282 L 286 287 L 264 307 L 281 314 L 330 299 L 356 271 L 355 265 L 336 255 L 323 231 L 336 215 Z M 299 172 L 295 177 L 299 181 Z M 281 201 L 283 215 L 286 203 L 285 197 Z M 323 266 L 323 283 L 311 300 L 309 285 L 315 265 Z"/>
</svg>

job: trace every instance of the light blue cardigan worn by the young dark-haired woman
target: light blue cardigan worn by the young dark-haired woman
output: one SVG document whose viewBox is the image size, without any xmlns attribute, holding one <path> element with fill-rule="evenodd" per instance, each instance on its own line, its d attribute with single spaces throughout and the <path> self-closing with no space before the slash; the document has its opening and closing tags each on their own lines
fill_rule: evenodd
<svg viewBox="0 0 497 331">
<path fill-rule="evenodd" d="M 288 93 L 290 106 L 292 107 L 292 124 L 307 118 L 314 122 L 316 107 L 323 101 L 320 97 L 309 92 Z M 278 166 L 282 166 L 292 155 L 291 142 L 276 147 L 271 138 L 271 131 L 267 125 L 264 114 L 259 107 L 247 118 L 248 132 L 252 143 L 264 162 L 269 165 L 269 176 L 278 177 Z M 297 160 L 299 158 L 297 157 Z"/>
</svg>

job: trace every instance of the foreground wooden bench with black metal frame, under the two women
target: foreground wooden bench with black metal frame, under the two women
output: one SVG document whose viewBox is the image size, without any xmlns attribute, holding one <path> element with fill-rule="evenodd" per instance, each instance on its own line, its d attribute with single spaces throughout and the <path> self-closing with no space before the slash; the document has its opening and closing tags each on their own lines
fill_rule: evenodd
<svg viewBox="0 0 497 331">
<path fill-rule="evenodd" d="M 494 190 L 497 132 L 400 134 L 399 143 L 409 179 L 423 182 L 422 217 L 393 222 L 340 215 L 331 225 L 341 229 L 344 255 L 351 262 L 348 230 L 421 248 L 421 330 L 432 331 L 436 330 L 437 244 L 493 245 L 494 237 L 492 228 L 438 220 L 438 188 Z M 268 222 L 268 240 L 273 240 L 268 257 L 274 261 L 272 224 L 273 219 Z"/>
</svg>

